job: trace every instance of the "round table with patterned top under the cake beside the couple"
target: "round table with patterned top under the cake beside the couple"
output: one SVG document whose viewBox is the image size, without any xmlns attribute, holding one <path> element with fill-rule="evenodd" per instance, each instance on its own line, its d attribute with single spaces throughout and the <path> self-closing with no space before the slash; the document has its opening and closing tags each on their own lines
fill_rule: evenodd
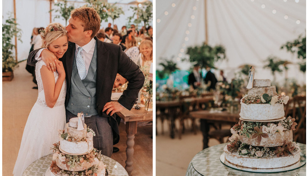
<svg viewBox="0 0 308 176">
<path fill-rule="evenodd" d="M 51 161 L 52 155 L 41 157 L 28 166 L 23 176 L 45 176 L 45 172 L 49 168 Z M 103 162 L 107 166 L 108 176 L 128 176 L 123 166 L 115 160 L 103 156 Z"/>
</svg>

